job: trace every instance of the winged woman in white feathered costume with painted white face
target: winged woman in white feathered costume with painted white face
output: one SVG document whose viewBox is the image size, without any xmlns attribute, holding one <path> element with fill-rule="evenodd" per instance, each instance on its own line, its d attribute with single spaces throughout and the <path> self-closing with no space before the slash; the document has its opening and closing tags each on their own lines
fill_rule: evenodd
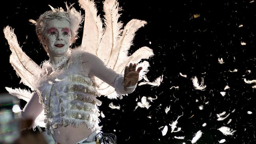
<svg viewBox="0 0 256 144">
<path fill-rule="evenodd" d="M 37 21 L 30 20 L 36 25 L 39 40 L 50 57 L 41 67 L 22 52 L 13 30 L 9 26 L 4 29 L 13 52 L 10 63 L 22 82 L 34 92 L 6 89 L 28 102 L 21 116 L 32 118 L 33 127 L 46 127 L 48 143 L 81 144 L 102 140 L 100 137 L 104 135 L 98 126 L 101 102 L 96 97 L 102 94 L 122 98 L 133 92 L 138 80 L 148 71 L 148 63 L 139 61 L 153 55 L 150 48 L 143 47 L 127 57 L 134 33 L 145 21 L 131 20 L 120 30 L 118 3 L 106 0 L 103 29 L 95 4 L 90 0 L 79 2 L 85 9 L 85 24 L 82 44 L 77 48 L 70 46 L 76 40 L 83 18 L 74 7 L 66 4 L 67 11 L 51 7 L 52 10 Z M 140 65 L 137 70 L 136 63 Z"/>
</svg>

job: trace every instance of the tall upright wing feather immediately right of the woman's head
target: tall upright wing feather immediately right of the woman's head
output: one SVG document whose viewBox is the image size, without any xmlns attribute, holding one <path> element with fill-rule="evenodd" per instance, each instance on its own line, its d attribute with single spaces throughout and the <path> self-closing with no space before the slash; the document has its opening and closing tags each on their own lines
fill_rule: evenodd
<svg viewBox="0 0 256 144">
<path fill-rule="evenodd" d="M 97 9 L 93 0 L 78 0 L 80 6 L 85 10 L 83 39 L 81 46 L 87 52 L 97 56 L 98 45 L 103 35 L 102 21 L 97 16 Z"/>
</svg>

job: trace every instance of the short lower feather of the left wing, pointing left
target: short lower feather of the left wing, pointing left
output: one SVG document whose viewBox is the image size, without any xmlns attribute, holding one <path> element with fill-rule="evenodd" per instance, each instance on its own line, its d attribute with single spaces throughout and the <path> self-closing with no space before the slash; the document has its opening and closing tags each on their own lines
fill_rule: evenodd
<svg viewBox="0 0 256 144">
<path fill-rule="evenodd" d="M 32 98 L 32 93 L 30 90 L 26 89 L 11 89 L 9 87 L 5 87 L 9 94 L 16 96 L 19 99 L 25 100 L 26 102 L 30 101 Z"/>
</svg>

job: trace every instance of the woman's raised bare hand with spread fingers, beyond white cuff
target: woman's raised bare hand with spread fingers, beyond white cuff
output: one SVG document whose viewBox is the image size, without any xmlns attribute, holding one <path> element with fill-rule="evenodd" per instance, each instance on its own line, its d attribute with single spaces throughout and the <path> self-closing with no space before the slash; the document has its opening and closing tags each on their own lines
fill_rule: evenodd
<svg viewBox="0 0 256 144">
<path fill-rule="evenodd" d="M 124 87 L 129 87 L 131 85 L 136 85 L 139 80 L 139 72 L 142 70 L 142 67 L 139 67 L 136 71 L 136 64 L 130 63 L 129 66 L 126 66 L 124 69 L 124 81 L 122 85 Z"/>
</svg>

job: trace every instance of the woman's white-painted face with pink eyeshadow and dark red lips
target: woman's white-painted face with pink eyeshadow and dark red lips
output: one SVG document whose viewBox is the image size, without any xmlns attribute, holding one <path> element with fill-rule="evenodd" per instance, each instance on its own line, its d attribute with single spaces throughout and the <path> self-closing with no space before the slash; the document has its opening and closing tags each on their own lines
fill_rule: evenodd
<svg viewBox="0 0 256 144">
<path fill-rule="evenodd" d="M 46 26 L 45 44 L 50 57 L 61 57 L 70 46 L 71 32 L 67 20 L 53 19 Z"/>
</svg>

